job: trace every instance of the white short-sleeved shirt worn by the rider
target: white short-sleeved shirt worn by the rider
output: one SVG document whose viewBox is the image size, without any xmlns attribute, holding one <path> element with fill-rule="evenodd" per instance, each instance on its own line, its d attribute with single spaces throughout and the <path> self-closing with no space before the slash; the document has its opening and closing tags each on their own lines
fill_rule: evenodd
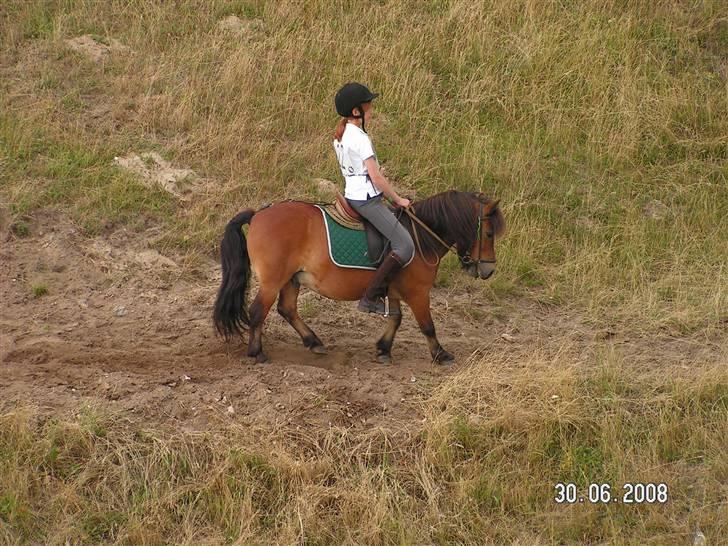
<svg viewBox="0 0 728 546">
<path fill-rule="evenodd" d="M 347 123 L 341 140 L 334 139 L 334 151 L 336 151 L 336 158 L 339 160 L 341 174 L 346 181 L 344 197 L 356 201 L 365 201 L 382 193 L 372 183 L 366 165 L 364 165 L 364 161 L 370 157 L 374 157 L 376 161 L 377 156 L 374 154 L 369 135 L 362 131 L 360 127 L 353 123 Z"/>
</svg>

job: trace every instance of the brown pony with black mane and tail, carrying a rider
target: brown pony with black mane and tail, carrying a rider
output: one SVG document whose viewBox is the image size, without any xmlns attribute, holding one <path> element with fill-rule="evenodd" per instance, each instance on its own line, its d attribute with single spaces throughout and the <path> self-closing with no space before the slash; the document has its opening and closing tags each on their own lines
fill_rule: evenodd
<svg viewBox="0 0 728 546">
<path fill-rule="evenodd" d="M 411 205 L 416 214 L 442 241 L 456 250 L 463 268 L 475 278 L 487 279 L 495 271 L 495 237 L 505 222 L 498 201 L 482 194 L 446 191 Z M 400 301 L 409 305 L 427 338 L 434 362 L 449 364 L 452 354 L 435 337 L 430 315 L 430 289 L 440 258 L 447 253 L 438 241 L 403 214 L 401 221 L 413 234 L 417 253 L 389 286 L 390 308 Z M 250 224 L 248 240 L 243 224 Z M 305 286 L 334 300 L 358 300 L 373 271 L 341 268 L 328 253 L 324 220 L 311 203 L 284 201 L 257 212 L 247 209 L 228 223 L 220 245 L 222 284 L 213 315 L 215 327 L 225 340 L 242 335 L 250 327 L 248 356 L 265 362 L 261 334 L 263 322 L 276 297 L 278 312 L 298 332 L 303 344 L 316 354 L 325 354 L 321 340 L 298 315 L 297 300 Z M 251 266 L 259 280 L 258 294 L 250 309 L 246 293 Z M 391 362 L 394 335 L 402 315 L 390 315 L 386 330 L 377 341 L 377 360 Z"/>
</svg>

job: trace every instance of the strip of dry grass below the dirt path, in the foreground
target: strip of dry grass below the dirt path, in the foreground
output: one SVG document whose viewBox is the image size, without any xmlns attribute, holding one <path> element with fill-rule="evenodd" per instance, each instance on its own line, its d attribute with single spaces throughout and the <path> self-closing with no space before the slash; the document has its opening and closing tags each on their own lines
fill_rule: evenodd
<svg viewBox="0 0 728 546">
<path fill-rule="evenodd" d="M 685 544 L 726 528 L 725 361 L 613 349 L 472 361 L 389 430 L 135 430 L 82 408 L 2 416 L 0 536 L 43 544 Z M 669 371 L 669 373 L 665 373 Z M 554 502 L 557 482 L 666 483 L 666 504 Z M 714 542 L 713 542 L 714 541 Z"/>
</svg>

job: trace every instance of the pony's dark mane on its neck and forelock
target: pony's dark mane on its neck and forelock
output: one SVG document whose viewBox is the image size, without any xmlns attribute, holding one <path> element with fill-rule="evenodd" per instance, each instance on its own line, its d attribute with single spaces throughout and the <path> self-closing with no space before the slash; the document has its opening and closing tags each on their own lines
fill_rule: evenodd
<svg viewBox="0 0 728 546">
<path fill-rule="evenodd" d="M 478 210 L 475 205 L 480 202 L 488 205 L 492 201 L 481 193 L 448 190 L 422 201 L 412 204 L 417 217 L 445 242 L 454 244 L 462 257 L 475 244 L 478 237 Z M 406 217 L 406 225 L 412 231 L 412 222 Z M 499 235 L 505 228 L 503 214 L 498 207 L 490 214 L 490 223 L 494 235 Z M 445 248 L 442 243 L 416 225 L 417 236 L 422 252 L 433 256 L 442 254 Z"/>
</svg>

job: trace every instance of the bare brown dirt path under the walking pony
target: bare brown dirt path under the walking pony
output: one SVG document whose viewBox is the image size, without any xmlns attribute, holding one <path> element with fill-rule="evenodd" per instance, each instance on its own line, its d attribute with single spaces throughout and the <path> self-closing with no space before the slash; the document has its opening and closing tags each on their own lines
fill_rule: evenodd
<svg viewBox="0 0 728 546">
<path fill-rule="evenodd" d="M 264 336 L 271 361 L 254 364 L 242 342 L 226 345 L 212 331 L 219 283 L 212 261 L 194 278 L 183 276 L 174 260 L 148 248 L 152 234 L 120 230 L 88 239 L 56 214 L 39 215 L 26 238 L 0 227 L 3 407 L 33 404 L 53 413 L 86 401 L 122 410 L 132 420 L 192 430 L 220 420 L 369 428 L 422 419 L 420 400 L 474 354 L 518 356 L 567 342 L 588 353 L 606 336 L 633 351 L 636 362 L 656 362 L 651 345 L 659 340 L 598 332 L 563 311 L 533 304 L 486 309 L 471 305 L 465 293 L 436 290 L 433 315 L 441 342 L 458 358 L 453 367 L 430 363 L 408 310 L 394 365 L 376 363 L 383 319 L 312 293 L 302 294 L 302 315 L 329 354 L 311 354 L 290 326 L 271 315 Z M 41 284 L 48 293 L 35 297 L 33 287 Z M 713 359 L 724 345 L 663 339 L 659 361 Z"/>
</svg>

